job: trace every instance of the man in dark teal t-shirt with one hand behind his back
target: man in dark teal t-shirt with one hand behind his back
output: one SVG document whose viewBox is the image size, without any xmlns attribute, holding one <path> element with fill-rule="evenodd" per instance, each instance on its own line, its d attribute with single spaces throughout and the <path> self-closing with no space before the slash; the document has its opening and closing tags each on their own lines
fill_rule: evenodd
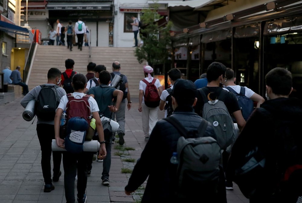
<svg viewBox="0 0 302 203">
<path fill-rule="evenodd" d="M 112 119 L 112 113 L 117 112 L 120 108 L 120 104 L 123 98 L 123 92 L 121 90 L 117 90 L 112 86 L 108 86 L 110 84 L 111 75 L 108 71 L 101 71 L 99 74 L 99 86 L 92 87 L 89 89 L 89 96 L 93 97 L 98 103 L 99 114 Z M 112 105 L 112 99 L 117 97 L 117 101 L 115 105 Z M 104 135 L 105 137 L 105 146 L 107 151 L 107 157 L 103 162 L 103 172 L 102 172 L 102 184 L 104 186 L 109 186 L 109 171 L 111 167 L 111 142 L 112 142 L 112 132 Z M 89 159 L 90 163 L 92 163 L 92 157 Z M 91 164 L 88 164 L 87 170 L 88 173 L 91 173 Z"/>
</svg>

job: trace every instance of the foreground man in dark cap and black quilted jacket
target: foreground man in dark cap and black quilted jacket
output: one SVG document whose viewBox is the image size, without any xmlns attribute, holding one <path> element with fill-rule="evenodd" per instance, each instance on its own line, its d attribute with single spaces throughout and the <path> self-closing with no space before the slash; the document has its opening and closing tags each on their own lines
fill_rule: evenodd
<svg viewBox="0 0 302 203">
<path fill-rule="evenodd" d="M 194 113 L 193 106 L 197 101 L 195 95 L 196 86 L 189 80 L 179 79 L 172 91 L 174 112 L 171 117 L 176 118 L 188 131 L 197 130 L 202 120 L 198 114 Z M 204 136 L 216 139 L 210 123 L 207 125 Z M 172 124 L 163 119 L 156 123 L 140 159 L 137 160 L 128 185 L 125 187 L 127 195 L 134 192 L 149 176 L 142 203 L 156 202 L 159 199 L 161 202 L 178 201 L 175 196 L 175 186 L 177 186 L 178 180 L 176 169 L 170 163 L 170 158 L 177 148 L 178 138 L 180 138 L 180 134 Z M 153 160 L 156 160 L 156 164 Z"/>
</svg>

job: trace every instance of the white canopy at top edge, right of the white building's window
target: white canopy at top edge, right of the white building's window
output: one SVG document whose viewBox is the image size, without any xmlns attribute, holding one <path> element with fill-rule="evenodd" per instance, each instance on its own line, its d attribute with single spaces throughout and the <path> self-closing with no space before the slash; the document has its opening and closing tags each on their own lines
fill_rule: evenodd
<svg viewBox="0 0 302 203">
<path fill-rule="evenodd" d="M 185 1 L 185 2 L 182 1 L 168 2 L 168 7 L 170 8 L 170 11 L 183 11 L 183 10 L 201 8 L 214 1 L 215 0 L 192 0 L 192 1 Z"/>
</svg>

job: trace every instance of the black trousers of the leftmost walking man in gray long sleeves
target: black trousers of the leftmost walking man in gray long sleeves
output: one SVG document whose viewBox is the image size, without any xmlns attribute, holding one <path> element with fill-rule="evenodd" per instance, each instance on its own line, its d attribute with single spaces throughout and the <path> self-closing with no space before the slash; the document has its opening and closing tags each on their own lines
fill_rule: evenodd
<svg viewBox="0 0 302 203">
<path fill-rule="evenodd" d="M 37 124 L 37 135 L 41 146 L 41 167 L 45 184 L 52 184 L 51 180 L 51 153 L 53 153 L 53 174 L 60 172 L 62 152 L 51 150 L 51 142 L 55 138 L 54 125 Z"/>
</svg>

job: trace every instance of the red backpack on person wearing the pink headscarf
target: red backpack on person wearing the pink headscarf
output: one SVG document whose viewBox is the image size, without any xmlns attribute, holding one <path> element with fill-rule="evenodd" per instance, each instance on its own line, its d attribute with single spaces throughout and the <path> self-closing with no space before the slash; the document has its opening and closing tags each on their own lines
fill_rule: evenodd
<svg viewBox="0 0 302 203">
<path fill-rule="evenodd" d="M 155 108 L 159 106 L 160 97 L 158 94 L 157 87 L 155 86 L 156 78 L 153 78 L 152 82 L 148 82 L 146 79 L 143 79 L 142 81 L 147 84 L 144 95 L 146 106 L 150 108 Z"/>
</svg>

